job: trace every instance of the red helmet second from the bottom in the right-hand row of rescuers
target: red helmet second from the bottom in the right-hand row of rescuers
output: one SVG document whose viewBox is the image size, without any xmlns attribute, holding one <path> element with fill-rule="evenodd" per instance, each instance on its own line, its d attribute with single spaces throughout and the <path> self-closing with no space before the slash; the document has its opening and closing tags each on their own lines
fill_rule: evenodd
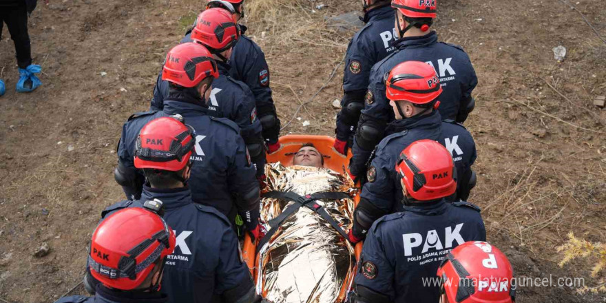
<svg viewBox="0 0 606 303">
<path fill-rule="evenodd" d="M 435 200 L 457 190 L 452 156 L 434 140 L 418 140 L 408 145 L 400 153 L 395 170 L 415 200 Z"/>
</svg>

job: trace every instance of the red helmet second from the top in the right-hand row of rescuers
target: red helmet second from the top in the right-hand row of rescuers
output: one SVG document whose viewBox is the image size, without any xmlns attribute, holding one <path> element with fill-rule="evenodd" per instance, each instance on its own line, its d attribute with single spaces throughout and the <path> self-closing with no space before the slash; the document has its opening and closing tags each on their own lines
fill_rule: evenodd
<svg viewBox="0 0 606 303">
<path fill-rule="evenodd" d="M 386 96 L 391 101 L 423 105 L 435 101 L 442 87 L 435 69 L 421 61 L 399 63 L 385 75 Z"/>
</svg>

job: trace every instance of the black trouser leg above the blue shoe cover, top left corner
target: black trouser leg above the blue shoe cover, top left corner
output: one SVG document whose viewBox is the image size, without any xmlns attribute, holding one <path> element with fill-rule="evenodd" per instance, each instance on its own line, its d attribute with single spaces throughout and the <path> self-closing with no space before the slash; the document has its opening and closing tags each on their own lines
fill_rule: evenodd
<svg viewBox="0 0 606 303">
<path fill-rule="evenodd" d="M 4 15 L 4 22 L 14 42 L 14 51 L 17 53 L 17 65 L 25 69 L 32 64 L 32 48 L 28 34 L 28 11 L 25 6 L 13 8 Z"/>
</svg>

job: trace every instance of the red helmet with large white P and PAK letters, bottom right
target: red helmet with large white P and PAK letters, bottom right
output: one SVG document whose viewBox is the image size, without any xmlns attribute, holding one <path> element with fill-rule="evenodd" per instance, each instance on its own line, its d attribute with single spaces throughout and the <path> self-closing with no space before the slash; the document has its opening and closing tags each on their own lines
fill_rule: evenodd
<svg viewBox="0 0 606 303">
<path fill-rule="evenodd" d="M 465 242 L 444 258 L 437 275 L 450 303 L 512 303 L 513 269 L 507 257 L 488 242 Z"/>
</svg>

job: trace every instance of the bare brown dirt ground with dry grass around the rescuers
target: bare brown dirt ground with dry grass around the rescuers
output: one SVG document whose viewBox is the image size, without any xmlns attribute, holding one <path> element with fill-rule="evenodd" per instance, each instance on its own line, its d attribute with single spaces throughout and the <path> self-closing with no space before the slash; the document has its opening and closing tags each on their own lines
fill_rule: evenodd
<svg viewBox="0 0 606 303">
<path fill-rule="evenodd" d="M 328 30 L 324 17 L 357 10 L 358 1 L 249 1 L 248 34 L 266 52 L 282 125 L 294 118 L 284 134 L 333 134 L 331 102 L 340 98 L 342 65 L 294 114 L 326 82 L 353 34 Z M 578 2 L 606 36 L 606 2 Z M 312 12 L 319 3 L 328 6 Z M 191 0 L 41 3 L 30 35 L 44 85 L 32 94 L 14 93 L 18 72 L 4 30 L 1 299 L 52 302 L 81 281 L 99 211 L 123 198 L 112 176 L 121 125 L 147 109 L 165 52 L 199 6 Z M 479 76 L 477 108 L 466 123 L 479 150 L 479 185 L 470 200 L 483 208 L 489 240 L 510 255 L 518 276 L 588 277 L 585 264 L 558 268 L 554 247 L 569 231 L 606 240 L 606 113 L 591 105 L 606 94 L 606 45 L 556 0 L 444 0 L 436 28 L 442 41 L 463 45 Z M 568 49 L 562 63 L 553 59 L 557 45 Z M 34 258 L 43 242 L 50 254 Z M 518 302 L 606 297 L 522 287 Z"/>
</svg>

